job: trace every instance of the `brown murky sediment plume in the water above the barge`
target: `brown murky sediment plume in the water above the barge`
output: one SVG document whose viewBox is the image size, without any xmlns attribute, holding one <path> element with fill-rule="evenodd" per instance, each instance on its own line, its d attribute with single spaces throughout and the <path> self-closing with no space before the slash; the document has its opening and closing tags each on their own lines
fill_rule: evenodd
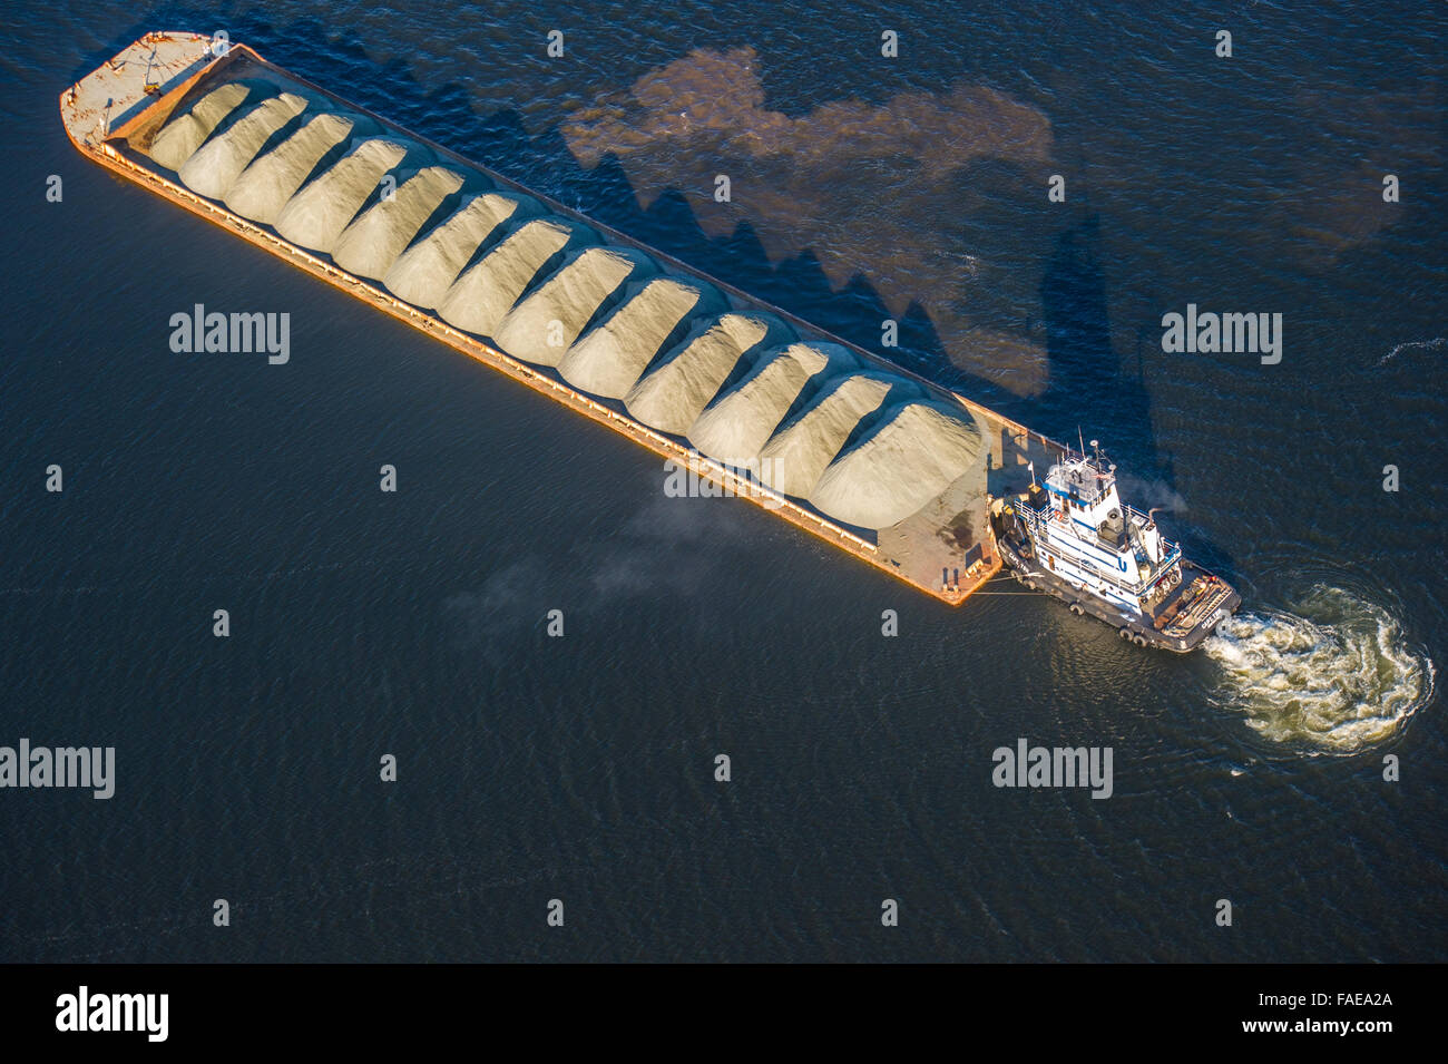
<svg viewBox="0 0 1448 1064">
<path fill-rule="evenodd" d="M 581 110 L 560 132 L 585 166 L 615 156 L 641 207 L 678 188 L 707 236 L 723 239 L 749 221 L 772 263 L 809 253 L 834 290 L 860 278 L 896 320 L 922 311 L 960 369 L 1018 394 L 1044 391 L 1038 339 L 1001 334 L 989 352 L 976 347 L 980 326 L 960 310 L 973 278 L 960 269 L 959 237 L 941 224 L 938 204 L 950 201 L 960 169 L 983 159 L 1015 164 L 1044 188 L 1054 148 L 1045 114 L 988 85 L 957 84 L 880 104 L 837 100 L 791 117 L 765 106 L 759 67 L 752 48 L 694 51 L 639 78 L 627 96 Z M 691 172 L 681 159 L 701 162 Z M 888 200 L 841 211 L 838 190 L 856 184 L 851 171 L 889 159 L 909 159 L 909 168 Z M 731 177 L 730 203 L 714 200 L 717 174 Z M 1040 318 L 1040 307 L 1024 316 Z"/>
</svg>

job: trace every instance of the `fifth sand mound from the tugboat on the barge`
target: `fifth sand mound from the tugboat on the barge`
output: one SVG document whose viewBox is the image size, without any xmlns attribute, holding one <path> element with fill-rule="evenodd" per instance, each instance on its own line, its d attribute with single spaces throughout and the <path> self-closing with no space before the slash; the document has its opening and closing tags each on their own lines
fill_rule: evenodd
<svg viewBox="0 0 1448 1064">
<path fill-rule="evenodd" d="M 568 349 L 557 372 L 575 388 L 621 400 L 686 320 L 724 310 L 711 285 L 657 276 L 631 285 L 624 303 Z"/>
</svg>

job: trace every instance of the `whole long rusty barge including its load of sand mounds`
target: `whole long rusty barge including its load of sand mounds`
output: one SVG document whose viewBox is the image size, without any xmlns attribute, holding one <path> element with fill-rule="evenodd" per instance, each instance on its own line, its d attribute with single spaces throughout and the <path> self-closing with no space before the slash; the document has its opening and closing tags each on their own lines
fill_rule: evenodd
<svg viewBox="0 0 1448 1064">
<path fill-rule="evenodd" d="M 951 605 L 1001 569 L 992 502 L 1066 453 L 245 45 L 149 33 L 61 114 L 111 171 Z"/>
</svg>

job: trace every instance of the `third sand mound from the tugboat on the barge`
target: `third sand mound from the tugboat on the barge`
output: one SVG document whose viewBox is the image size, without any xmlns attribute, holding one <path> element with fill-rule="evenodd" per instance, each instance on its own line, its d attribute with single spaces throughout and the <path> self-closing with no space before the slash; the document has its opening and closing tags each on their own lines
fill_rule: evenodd
<svg viewBox="0 0 1448 1064">
<path fill-rule="evenodd" d="M 689 442 L 720 462 L 757 469 L 759 452 L 805 389 L 854 368 L 854 356 L 837 343 L 791 343 L 765 352 L 698 415 Z"/>
</svg>

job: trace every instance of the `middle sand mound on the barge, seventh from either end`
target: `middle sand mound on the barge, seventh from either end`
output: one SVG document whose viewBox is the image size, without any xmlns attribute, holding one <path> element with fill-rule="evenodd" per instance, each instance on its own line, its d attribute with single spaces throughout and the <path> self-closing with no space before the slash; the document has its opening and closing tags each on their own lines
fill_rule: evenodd
<svg viewBox="0 0 1448 1064">
<path fill-rule="evenodd" d="M 563 219 L 527 221 L 453 281 L 437 313 L 469 333 L 492 336 L 553 256 L 595 243 L 597 233 Z"/>
</svg>

